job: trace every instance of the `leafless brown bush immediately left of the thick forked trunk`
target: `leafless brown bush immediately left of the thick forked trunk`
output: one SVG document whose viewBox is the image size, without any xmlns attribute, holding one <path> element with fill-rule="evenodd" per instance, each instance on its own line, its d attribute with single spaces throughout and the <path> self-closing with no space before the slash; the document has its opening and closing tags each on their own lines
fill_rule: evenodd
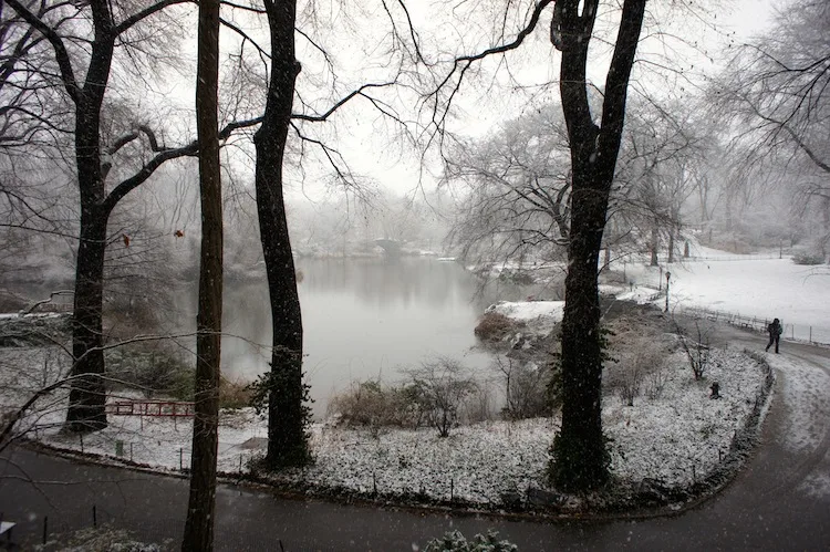
<svg viewBox="0 0 830 552">
<path fill-rule="evenodd" d="M 550 369 L 530 362 L 498 356 L 494 369 L 505 384 L 504 416 L 508 419 L 525 419 L 546 416 L 550 413 L 548 382 Z"/>
</svg>

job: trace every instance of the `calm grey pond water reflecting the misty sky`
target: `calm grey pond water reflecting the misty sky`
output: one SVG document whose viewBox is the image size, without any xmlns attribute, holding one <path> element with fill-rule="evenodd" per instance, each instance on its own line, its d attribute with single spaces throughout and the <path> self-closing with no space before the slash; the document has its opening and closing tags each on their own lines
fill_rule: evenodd
<svg viewBox="0 0 830 552">
<path fill-rule="evenodd" d="M 487 369 L 490 356 L 475 348 L 473 329 L 492 298 L 477 294 L 478 281 L 457 263 L 301 259 L 297 269 L 303 275 L 304 371 L 315 416 L 324 415 L 331 396 L 353 382 L 396 382 L 403 369 L 439 356 Z M 226 285 L 224 332 L 227 377 L 253 379 L 268 369 L 264 274 L 262 281 Z"/>
</svg>

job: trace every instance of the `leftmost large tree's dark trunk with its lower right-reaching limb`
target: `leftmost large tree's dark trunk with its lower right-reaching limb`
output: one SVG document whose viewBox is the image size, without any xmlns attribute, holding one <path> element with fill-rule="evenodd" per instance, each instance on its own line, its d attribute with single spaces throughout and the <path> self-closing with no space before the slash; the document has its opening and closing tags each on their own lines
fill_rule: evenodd
<svg viewBox="0 0 830 552">
<path fill-rule="evenodd" d="M 42 10 L 45 4 L 32 12 L 30 8 L 37 2 L 4 0 L 27 24 L 31 25 L 33 31 L 41 33 L 51 44 L 61 85 L 74 104 L 75 168 L 81 201 L 81 228 L 75 268 L 72 375 L 83 377 L 73 377 L 70 389 L 66 428 L 73 431 L 90 431 L 106 426 L 102 309 L 104 253 L 110 213 L 117 201 L 146 180 L 158 165 L 174 157 L 174 155 L 159 156 L 134 177 L 122 183 L 114 194 L 107 197 L 106 173 L 102 164 L 101 110 L 110 82 L 116 39 L 133 25 L 166 7 L 185 1 L 159 0 L 154 4 L 139 8 L 132 17 L 123 19 L 120 23 L 116 23 L 112 3 L 107 0 L 89 0 L 79 3 L 77 8 L 83 13 L 79 11 L 76 17 L 90 19 L 93 28 L 93 37 L 87 43 L 89 49 L 84 46 L 82 54 L 82 56 L 89 55 L 89 64 L 80 67 L 82 56 L 76 58 L 70 53 L 77 53 L 80 50 L 66 48 L 68 42 L 74 43 L 76 40 L 59 34 L 56 29 L 61 23 L 43 17 Z M 92 12 L 91 15 L 86 12 L 87 7 Z M 118 15 L 123 14 L 118 13 Z M 120 45 L 127 46 L 124 42 L 120 42 Z M 82 70 L 76 71 L 79 67 Z M 38 71 L 37 67 L 33 70 Z M 82 76 L 76 76 L 76 74 Z M 183 149 L 176 155 L 188 154 L 188 150 Z"/>
</svg>

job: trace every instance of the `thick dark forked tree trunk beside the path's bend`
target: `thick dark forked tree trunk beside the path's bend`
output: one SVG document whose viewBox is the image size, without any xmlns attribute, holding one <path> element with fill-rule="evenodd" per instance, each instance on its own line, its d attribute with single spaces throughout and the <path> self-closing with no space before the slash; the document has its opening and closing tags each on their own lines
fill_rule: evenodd
<svg viewBox="0 0 830 552">
<path fill-rule="evenodd" d="M 554 45 L 562 51 L 560 92 L 573 168 L 562 320 L 562 427 L 553 445 L 551 479 L 558 488 L 572 492 L 608 480 L 598 262 L 645 0 L 624 1 L 600 125 L 591 116 L 585 80 L 598 8 L 599 0 L 558 0 L 551 29 Z"/>
</svg>

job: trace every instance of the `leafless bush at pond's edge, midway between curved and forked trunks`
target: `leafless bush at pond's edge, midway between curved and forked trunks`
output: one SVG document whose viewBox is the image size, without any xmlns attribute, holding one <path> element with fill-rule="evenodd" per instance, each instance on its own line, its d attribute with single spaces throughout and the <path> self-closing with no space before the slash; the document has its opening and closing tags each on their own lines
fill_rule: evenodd
<svg viewBox="0 0 830 552">
<path fill-rule="evenodd" d="M 458 409 L 476 390 L 476 383 L 461 363 L 439 357 L 408 371 L 426 423 L 448 437 L 458 424 Z"/>
</svg>

